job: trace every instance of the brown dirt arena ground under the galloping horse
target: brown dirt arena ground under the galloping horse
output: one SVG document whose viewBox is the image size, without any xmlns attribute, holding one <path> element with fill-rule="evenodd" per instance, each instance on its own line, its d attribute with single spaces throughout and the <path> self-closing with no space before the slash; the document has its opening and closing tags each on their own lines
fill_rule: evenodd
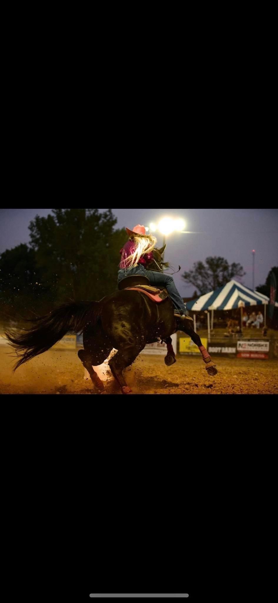
<svg viewBox="0 0 278 603">
<path fill-rule="evenodd" d="M 12 374 L 14 358 L 7 345 L 0 346 L 1 394 L 95 394 L 74 350 L 48 350 Z M 166 367 L 163 356 L 140 355 L 125 370 L 134 394 L 277 394 L 278 362 L 213 357 L 218 374 L 210 377 L 201 356 L 177 356 Z M 119 393 L 109 367 L 98 370 L 106 393 Z"/>
</svg>

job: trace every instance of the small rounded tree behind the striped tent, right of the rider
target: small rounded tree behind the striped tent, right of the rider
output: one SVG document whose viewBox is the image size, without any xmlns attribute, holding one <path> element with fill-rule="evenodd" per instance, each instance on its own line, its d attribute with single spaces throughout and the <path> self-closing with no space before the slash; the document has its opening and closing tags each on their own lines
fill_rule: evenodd
<svg viewBox="0 0 278 603">
<path fill-rule="evenodd" d="M 199 289 L 201 295 L 226 285 L 234 276 L 242 277 L 245 274 L 241 264 L 233 262 L 229 265 L 224 257 L 206 257 L 205 262 L 206 265 L 195 262 L 193 269 L 182 275 L 187 283 Z"/>
</svg>

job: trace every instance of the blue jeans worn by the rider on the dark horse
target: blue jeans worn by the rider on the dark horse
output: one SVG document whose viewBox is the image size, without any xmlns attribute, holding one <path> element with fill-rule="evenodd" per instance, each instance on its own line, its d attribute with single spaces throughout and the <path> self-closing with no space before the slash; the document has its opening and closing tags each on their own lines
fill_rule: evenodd
<svg viewBox="0 0 278 603">
<path fill-rule="evenodd" d="M 185 302 L 183 301 L 182 297 L 180 297 L 180 294 L 175 286 L 174 279 L 171 275 L 163 274 L 163 272 L 156 272 L 155 270 L 146 270 L 144 266 L 140 264 L 134 268 L 120 268 L 118 272 L 118 283 L 120 280 L 125 279 L 126 276 L 133 276 L 133 274 L 137 274 L 138 276 L 147 276 L 147 278 L 150 280 L 150 285 L 156 287 L 165 287 L 169 293 L 169 297 L 171 297 L 175 309 L 185 312 Z"/>
</svg>

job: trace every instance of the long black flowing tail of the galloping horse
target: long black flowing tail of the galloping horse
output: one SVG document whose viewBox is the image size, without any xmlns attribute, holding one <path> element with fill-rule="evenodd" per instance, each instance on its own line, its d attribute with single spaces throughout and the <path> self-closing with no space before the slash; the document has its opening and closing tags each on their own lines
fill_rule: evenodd
<svg viewBox="0 0 278 603">
<path fill-rule="evenodd" d="M 60 341 L 68 332 L 83 332 L 86 324 L 96 324 L 101 316 L 102 306 L 99 301 L 81 301 L 80 303 L 65 303 L 46 316 L 32 320 L 36 323 L 31 329 L 17 332 L 7 330 L 5 335 L 10 345 L 21 356 L 16 362 L 13 372 L 21 364 L 34 356 L 42 354 Z"/>
</svg>

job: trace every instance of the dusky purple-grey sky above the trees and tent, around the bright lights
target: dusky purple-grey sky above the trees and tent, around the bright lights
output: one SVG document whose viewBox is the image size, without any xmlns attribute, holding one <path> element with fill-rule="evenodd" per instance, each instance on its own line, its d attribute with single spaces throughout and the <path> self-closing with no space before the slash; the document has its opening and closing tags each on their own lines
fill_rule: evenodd
<svg viewBox="0 0 278 603">
<path fill-rule="evenodd" d="M 105 209 L 100 209 L 104 212 Z M 174 233 L 166 237 L 165 259 L 178 270 L 175 284 L 183 297 L 190 297 L 194 286 L 182 279 L 185 270 L 207 256 L 222 256 L 229 263 L 239 262 L 246 272 L 241 282 L 252 287 L 252 250 L 255 250 L 255 287 L 265 283 L 270 268 L 278 265 L 278 210 L 277 209 L 112 209 L 118 218 L 116 228 L 136 224 L 149 226 L 170 216 L 183 218 L 185 230 L 201 234 Z M 51 209 L 0 209 L 0 254 L 20 243 L 28 243 L 28 225 L 36 214 L 47 216 Z M 159 247 L 163 236 L 157 236 Z M 120 256 L 119 256 L 120 259 Z"/>
</svg>

